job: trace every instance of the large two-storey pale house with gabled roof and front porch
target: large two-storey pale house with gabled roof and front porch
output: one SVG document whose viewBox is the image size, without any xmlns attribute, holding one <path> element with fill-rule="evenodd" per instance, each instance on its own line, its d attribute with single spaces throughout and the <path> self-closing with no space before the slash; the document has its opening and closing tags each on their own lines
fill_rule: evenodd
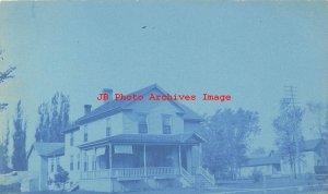
<svg viewBox="0 0 328 194">
<path fill-rule="evenodd" d="M 108 101 L 94 110 L 85 105 L 63 131 L 60 165 L 73 184 L 99 192 L 214 184 L 201 163 L 201 117 L 175 100 L 147 100 L 167 94 L 156 84 L 131 93 L 144 100 L 105 93 Z"/>
</svg>

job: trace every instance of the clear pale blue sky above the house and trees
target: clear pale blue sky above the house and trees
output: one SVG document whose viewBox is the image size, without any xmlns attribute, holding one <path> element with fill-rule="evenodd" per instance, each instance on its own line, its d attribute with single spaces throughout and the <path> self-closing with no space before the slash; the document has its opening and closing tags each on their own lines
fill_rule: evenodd
<svg viewBox="0 0 328 194">
<path fill-rule="evenodd" d="M 298 106 L 327 102 L 327 19 L 325 1 L 0 2 L 0 71 L 17 68 L 0 84 L 0 101 L 10 104 L 1 128 L 21 99 L 31 145 L 37 107 L 56 92 L 70 96 L 74 120 L 83 105 L 102 104 L 102 88 L 130 93 L 156 83 L 172 94 L 231 95 L 184 104 L 199 114 L 257 111 L 253 147 L 270 149 L 285 85 L 296 87 Z"/>
</svg>

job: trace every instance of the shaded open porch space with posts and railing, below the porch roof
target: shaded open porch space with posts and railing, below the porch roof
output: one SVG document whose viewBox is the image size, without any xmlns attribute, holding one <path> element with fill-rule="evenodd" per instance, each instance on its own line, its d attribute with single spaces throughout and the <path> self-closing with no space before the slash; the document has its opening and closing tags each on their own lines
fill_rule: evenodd
<svg viewBox="0 0 328 194">
<path fill-rule="evenodd" d="M 200 167 L 199 145 L 109 144 L 81 151 L 81 179 L 195 174 Z"/>
</svg>

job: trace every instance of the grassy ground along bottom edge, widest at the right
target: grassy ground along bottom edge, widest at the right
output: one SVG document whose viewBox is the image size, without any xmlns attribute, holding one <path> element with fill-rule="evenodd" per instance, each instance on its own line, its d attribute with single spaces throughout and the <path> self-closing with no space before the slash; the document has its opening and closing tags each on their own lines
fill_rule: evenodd
<svg viewBox="0 0 328 194">
<path fill-rule="evenodd" d="M 4 192 L 1 194 L 17 194 Z M 77 191 L 72 194 L 106 194 L 102 192 Z M 119 194 L 327 194 L 328 184 L 315 180 L 271 179 L 266 182 L 253 183 L 251 181 L 234 181 L 218 183 L 212 189 L 166 189 L 141 192 L 125 192 Z M 27 192 L 24 194 L 67 194 L 67 192 Z"/>
</svg>

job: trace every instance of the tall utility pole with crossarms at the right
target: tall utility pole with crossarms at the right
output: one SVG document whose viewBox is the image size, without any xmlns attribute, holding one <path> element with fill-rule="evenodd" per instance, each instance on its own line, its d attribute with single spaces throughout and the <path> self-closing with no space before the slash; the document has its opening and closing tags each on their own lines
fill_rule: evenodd
<svg viewBox="0 0 328 194">
<path fill-rule="evenodd" d="M 301 174 L 301 154 L 300 154 L 300 140 L 301 140 L 301 134 L 300 134 L 300 129 L 296 125 L 296 108 L 295 108 L 295 87 L 294 86 L 284 86 L 285 92 L 288 93 L 288 98 L 290 100 L 290 105 L 292 106 L 292 111 L 293 111 L 293 138 L 295 141 L 295 148 L 296 148 L 296 157 L 295 157 L 295 162 L 297 166 L 297 172 L 298 175 Z"/>
</svg>

